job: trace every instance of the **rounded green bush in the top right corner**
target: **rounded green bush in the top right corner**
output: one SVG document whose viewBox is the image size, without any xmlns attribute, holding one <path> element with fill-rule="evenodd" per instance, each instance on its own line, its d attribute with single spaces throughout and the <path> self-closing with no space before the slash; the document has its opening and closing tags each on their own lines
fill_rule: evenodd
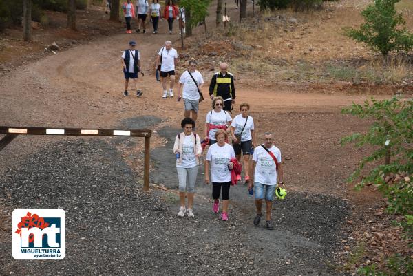
<svg viewBox="0 0 413 276">
<path fill-rule="evenodd" d="M 413 47 L 413 34 L 405 27 L 395 4 L 400 0 L 374 0 L 361 12 L 365 23 L 360 29 L 345 28 L 346 35 L 357 42 L 366 43 L 384 56 L 392 51 L 409 52 Z"/>
</svg>

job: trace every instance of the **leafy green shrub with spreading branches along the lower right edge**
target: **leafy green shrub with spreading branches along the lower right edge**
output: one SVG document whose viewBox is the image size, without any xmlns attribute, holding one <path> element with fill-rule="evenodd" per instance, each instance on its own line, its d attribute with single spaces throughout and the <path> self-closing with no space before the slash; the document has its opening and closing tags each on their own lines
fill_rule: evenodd
<svg viewBox="0 0 413 276">
<path fill-rule="evenodd" d="M 410 180 L 413 173 L 413 99 L 399 101 L 394 97 L 390 100 L 378 101 L 372 98 L 371 103 L 367 100 L 363 105 L 353 103 L 352 107 L 343 109 L 342 113 L 373 120 L 366 134 L 352 134 L 341 140 L 342 144 L 354 142 L 356 147 L 370 145 L 374 148 L 370 156 L 361 160 L 359 167 L 348 178 L 348 182 L 357 180 L 363 169 L 366 169 L 366 165 L 370 164 L 372 169 L 368 169 L 367 175 L 357 184 L 357 188 L 361 189 L 368 183 L 377 185 L 383 196 L 388 198 L 387 211 L 403 215 L 404 220 L 396 224 L 403 226 L 405 239 L 413 245 L 413 184 Z M 392 162 L 378 164 L 383 162 L 389 152 Z M 390 174 L 400 174 L 405 177 L 386 183 L 384 178 Z M 388 265 L 389 268 L 403 266 L 403 269 L 406 268 L 413 273 L 412 260 L 407 261 L 409 260 L 399 256 L 390 259 Z M 374 269 L 374 266 L 368 266 L 363 268 L 361 273 L 365 273 L 363 275 L 412 275 L 380 274 L 374 272 Z"/>
</svg>

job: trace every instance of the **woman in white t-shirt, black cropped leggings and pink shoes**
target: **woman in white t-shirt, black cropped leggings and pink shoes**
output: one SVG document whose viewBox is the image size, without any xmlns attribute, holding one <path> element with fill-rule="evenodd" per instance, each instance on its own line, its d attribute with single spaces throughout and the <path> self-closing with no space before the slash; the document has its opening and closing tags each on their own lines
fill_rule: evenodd
<svg viewBox="0 0 413 276">
<path fill-rule="evenodd" d="M 209 184 L 209 163 L 211 163 L 212 198 L 214 213 L 220 211 L 220 195 L 222 193 L 221 220 L 228 220 L 229 187 L 231 186 L 232 158 L 235 158 L 233 147 L 225 140 L 228 135 L 224 129 L 215 132 L 217 142 L 208 149 L 205 158 L 205 184 Z"/>
</svg>

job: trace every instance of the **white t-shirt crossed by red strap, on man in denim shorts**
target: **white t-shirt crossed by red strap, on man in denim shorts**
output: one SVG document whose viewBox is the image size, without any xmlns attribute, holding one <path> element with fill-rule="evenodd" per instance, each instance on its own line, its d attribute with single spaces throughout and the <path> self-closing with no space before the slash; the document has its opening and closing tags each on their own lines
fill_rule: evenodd
<svg viewBox="0 0 413 276">
<path fill-rule="evenodd" d="M 281 151 L 273 145 L 270 149 L 277 161 L 281 163 Z M 266 150 L 260 146 L 255 147 L 253 160 L 257 162 L 255 166 L 254 181 L 266 185 L 277 184 L 277 171 L 275 162 Z"/>
</svg>

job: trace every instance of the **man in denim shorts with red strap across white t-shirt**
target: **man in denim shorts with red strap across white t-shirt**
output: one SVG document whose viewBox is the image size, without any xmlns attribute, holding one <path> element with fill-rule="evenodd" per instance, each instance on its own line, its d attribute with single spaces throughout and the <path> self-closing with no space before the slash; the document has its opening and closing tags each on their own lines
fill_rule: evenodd
<svg viewBox="0 0 413 276">
<path fill-rule="evenodd" d="M 248 183 L 248 189 L 255 186 L 257 215 L 254 219 L 254 225 L 258 226 L 260 224 L 262 200 L 265 198 L 266 228 L 269 230 L 274 229 L 271 220 L 271 209 L 273 208 L 275 187 L 277 187 L 277 182 L 284 185 L 284 182 L 282 182 L 284 173 L 281 165 L 281 151 L 273 145 L 273 142 L 273 134 L 266 132 L 264 134 L 264 144 L 255 147 L 250 170 L 251 181 Z"/>
</svg>

